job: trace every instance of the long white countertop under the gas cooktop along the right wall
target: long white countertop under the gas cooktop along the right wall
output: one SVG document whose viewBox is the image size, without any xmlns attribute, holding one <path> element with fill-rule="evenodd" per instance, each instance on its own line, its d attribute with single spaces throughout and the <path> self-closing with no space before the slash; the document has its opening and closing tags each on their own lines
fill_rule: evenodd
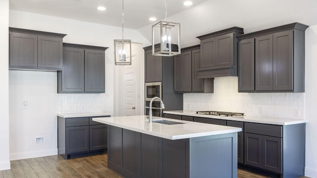
<svg viewBox="0 0 317 178">
<path fill-rule="evenodd" d="M 188 112 L 194 112 L 194 111 L 188 111 Z M 175 115 L 184 115 L 184 116 L 193 116 L 193 117 L 213 118 L 213 119 L 221 119 L 221 120 L 227 120 L 227 121 L 240 121 L 240 122 L 250 122 L 250 123 L 259 123 L 259 124 L 272 124 L 272 125 L 281 125 L 281 126 L 308 123 L 308 121 L 305 119 L 289 119 L 289 120 L 293 120 L 293 121 L 279 122 L 279 121 L 267 121 L 267 120 L 265 120 L 265 118 L 263 118 L 263 120 L 252 120 L 252 119 L 247 119 L 247 118 L 241 119 L 238 117 L 235 118 L 235 117 L 221 117 L 221 116 L 191 114 L 191 113 L 183 113 L 182 110 L 163 111 L 163 113 L 175 114 Z M 260 118 L 260 117 L 257 117 L 257 118 Z M 268 117 L 266 117 L 266 118 L 268 118 Z M 286 119 L 286 118 L 276 118 L 276 119 Z"/>
</svg>

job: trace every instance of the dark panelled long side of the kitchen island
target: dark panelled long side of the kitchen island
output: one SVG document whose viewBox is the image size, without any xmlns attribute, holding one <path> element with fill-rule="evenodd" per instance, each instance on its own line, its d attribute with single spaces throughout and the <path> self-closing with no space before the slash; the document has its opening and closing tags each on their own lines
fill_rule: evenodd
<svg viewBox="0 0 317 178">
<path fill-rule="evenodd" d="M 108 167 L 126 178 L 189 178 L 189 139 L 108 126 Z M 141 169 L 142 167 L 142 169 Z"/>
</svg>

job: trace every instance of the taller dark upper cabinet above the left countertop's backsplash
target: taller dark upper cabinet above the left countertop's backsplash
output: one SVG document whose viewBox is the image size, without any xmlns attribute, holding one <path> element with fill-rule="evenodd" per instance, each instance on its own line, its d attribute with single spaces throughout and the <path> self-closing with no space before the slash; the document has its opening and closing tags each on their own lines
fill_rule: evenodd
<svg viewBox="0 0 317 178">
<path fill-rule="evenodd" d="M 63 70 L 57 73 L 57 92 L 105 92 L 106 49 L 107 47 L 64 44 Z"/>
</svg>

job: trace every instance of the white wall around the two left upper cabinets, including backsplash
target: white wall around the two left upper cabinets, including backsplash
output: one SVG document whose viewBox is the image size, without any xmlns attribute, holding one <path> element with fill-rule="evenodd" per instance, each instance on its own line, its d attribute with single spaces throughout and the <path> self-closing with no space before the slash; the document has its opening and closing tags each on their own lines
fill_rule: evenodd
<svg viewBox="0 0 317 178">
<path fill-rule="evenodd" d="M 113 40 L 122 37 L 121 28 L 15 10 L 9 11 L 9 26 L 67 34 L 63 39 L 65 43 L 109 47 L 106 50 L 106 93 L 57 94 L 54 72 L 9 73 L 10 159 L 57 154 L 56 113 L 114 113 Z M 132 42 L 149 44 L 136 30 L 125 29 L 124 34 Z M 7 47 L 7 41 L 5 43 Z M 7 58 L 1 66 L 7 66 Z M 23 109 L 23 101 L 28 101 L 28 109 Z M 45 142 L 36 145 L 36 136 L 44 136 Z"/>
</svg>

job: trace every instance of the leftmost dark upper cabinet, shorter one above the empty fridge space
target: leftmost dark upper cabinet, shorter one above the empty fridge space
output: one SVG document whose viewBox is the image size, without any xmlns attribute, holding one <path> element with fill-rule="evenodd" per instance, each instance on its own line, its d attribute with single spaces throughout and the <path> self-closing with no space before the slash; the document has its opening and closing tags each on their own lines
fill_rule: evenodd
<svg viewBox="0 0 317 178">
<path fill-rule="evenodd" d="M 9 69 L 62 70 L 65 34 L 9 28 Z"/>
</svg>

